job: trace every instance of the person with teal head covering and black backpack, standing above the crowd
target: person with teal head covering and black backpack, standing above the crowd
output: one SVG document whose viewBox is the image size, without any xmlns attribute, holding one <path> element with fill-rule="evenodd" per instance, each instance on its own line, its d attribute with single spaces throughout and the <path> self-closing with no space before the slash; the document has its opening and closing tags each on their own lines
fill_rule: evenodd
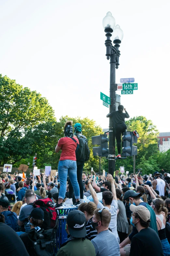
<svg viewBox="0 0 170 256">
<path fill-rule="evenodd" d="M 78 139 L 79 141 L 79 148 L 76 152 L 76 163 L 77 163 L 77 180 L 78 185 L 80 188 L 80 203 L 84 203 L 83 200 L 83 192 L 84 192 L 84 186 L 82 181 L 82 174 L 83 174 L 83 167 L 84 162 L 89 160 L 90 157 L 90 150 L 88 147 L 88 141 L 84 135 L 82 135 L 82 128 L 80 123 L 76 123 L 74 125 L 74 137 Z M 69 196 L 68 199 L 66 199 L 65 204 L 73 204 L 73 186 L 71 184 L 71 181 L 69 179 Z"/>
</svg>

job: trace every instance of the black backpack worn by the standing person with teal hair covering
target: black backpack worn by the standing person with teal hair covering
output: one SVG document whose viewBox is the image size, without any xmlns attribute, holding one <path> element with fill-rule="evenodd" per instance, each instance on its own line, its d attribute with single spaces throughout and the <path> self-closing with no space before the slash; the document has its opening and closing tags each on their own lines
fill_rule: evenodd
<svg viewBox="0 0 170 256">
<path fill-rule="evenodd" d="M 86 162 L 90 158 L 90 149 L 88 146 L 88 141 L 86 137 L 82 134 L 81 135 L 76 134 L 76 136 L 78 137 L 78 141 L 79 141 L 79 147 L 76 152 L 76 161 Z"/>
</svg>

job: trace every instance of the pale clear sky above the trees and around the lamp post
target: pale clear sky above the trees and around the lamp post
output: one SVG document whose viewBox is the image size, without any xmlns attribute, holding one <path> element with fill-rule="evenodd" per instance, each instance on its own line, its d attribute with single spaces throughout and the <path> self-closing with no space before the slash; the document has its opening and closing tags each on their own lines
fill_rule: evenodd
<svg viewBox="0 0 170 256">
<path fill-rule="evenodd" d="M 111 11 L 124 32 L 116 83 L 138 83 L 121 104 L 170 131 L 169 10 L 169 0 L 1 0 L 0 73 L 46 97 L 57 119 L 89 117 L 108 128 L 100 92 L 109 96 L 102 20 Z"/>
</svg>

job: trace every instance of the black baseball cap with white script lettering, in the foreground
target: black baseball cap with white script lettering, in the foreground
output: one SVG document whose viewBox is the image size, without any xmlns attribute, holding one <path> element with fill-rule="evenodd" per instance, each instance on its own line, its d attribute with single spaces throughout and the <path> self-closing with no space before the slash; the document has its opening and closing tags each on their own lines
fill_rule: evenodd
<svg viewBox="0 0 170 256">
<path fill-rule="evenodd" d="M 73 210 L 67 215 L 67 225 L 70 235 L 80 238 L 86 236 L 86 217 L 79 210 Z"/>
</svg>

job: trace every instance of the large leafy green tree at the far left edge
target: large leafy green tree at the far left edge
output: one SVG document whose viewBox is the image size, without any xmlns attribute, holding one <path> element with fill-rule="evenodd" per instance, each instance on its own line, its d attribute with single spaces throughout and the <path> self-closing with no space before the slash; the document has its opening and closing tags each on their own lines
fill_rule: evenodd
<svg viewBox="0 0 170 256">
<path fill-rule="evenodd" d="M 0 75 L 0 166 L 29 157 L 41 125 L 54 122 L 46 98 Z M 45 139 L 40 132 L 38 136 Z"/>
</svg>

